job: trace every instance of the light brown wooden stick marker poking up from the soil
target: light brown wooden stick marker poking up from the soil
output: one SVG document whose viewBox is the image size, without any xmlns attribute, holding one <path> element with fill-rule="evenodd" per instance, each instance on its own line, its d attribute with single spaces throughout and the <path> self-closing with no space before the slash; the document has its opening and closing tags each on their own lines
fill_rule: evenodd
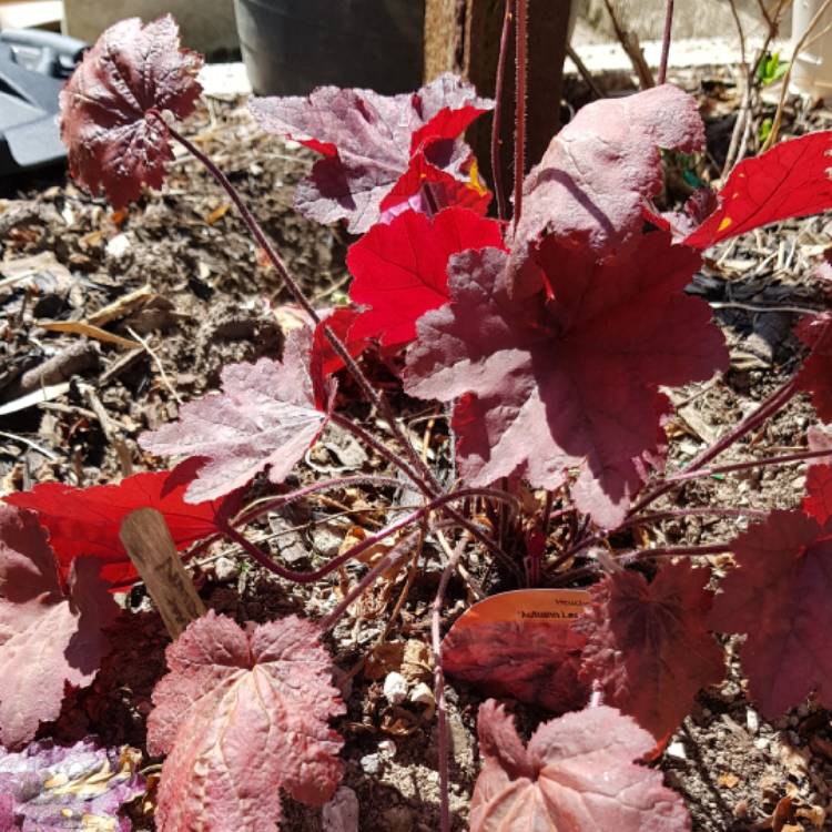
<svg viewBox="0 0 832 832">
<path fill-rule="evenodd" d="M 182 566 L 164 517 L 154 508 L 140 508 L 124 518 L 119 536 L 175 640 L 205 613 L 205 605 Z"/>
</svg>

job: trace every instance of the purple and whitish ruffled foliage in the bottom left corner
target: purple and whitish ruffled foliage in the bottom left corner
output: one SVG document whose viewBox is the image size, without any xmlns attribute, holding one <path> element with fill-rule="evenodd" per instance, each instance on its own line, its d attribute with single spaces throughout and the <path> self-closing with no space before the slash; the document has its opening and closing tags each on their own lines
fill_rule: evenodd
<svg viewBox="0 0 832 832">
<path fill-rule="evenodd" d="M 144 792 L 136 759 L 130 749 L 100 748 L 91 740 L 69 747 L 34 742 L 17 753 L 0 748 L 0 830 L 130 832 L 119 809 Z"/>
</svg>

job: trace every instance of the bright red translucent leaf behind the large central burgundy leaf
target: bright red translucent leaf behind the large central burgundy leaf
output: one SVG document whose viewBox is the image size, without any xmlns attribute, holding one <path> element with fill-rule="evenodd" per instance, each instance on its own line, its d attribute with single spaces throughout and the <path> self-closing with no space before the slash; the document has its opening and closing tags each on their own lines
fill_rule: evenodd
<svg viewBox="0 0 832 832">
<path fill-rule="evenodd" d="M 416 211 L 369 230 L 347 254 L 349 297 L 369 308 L 353 324 L 352 338 L 378 338 L 398 347 L 416 337 L 416 321 L 448 301 L 448 258 L 468 248 L 501 247 L 500 224 L 465 209 L 433 220 Z"/>
</svg>

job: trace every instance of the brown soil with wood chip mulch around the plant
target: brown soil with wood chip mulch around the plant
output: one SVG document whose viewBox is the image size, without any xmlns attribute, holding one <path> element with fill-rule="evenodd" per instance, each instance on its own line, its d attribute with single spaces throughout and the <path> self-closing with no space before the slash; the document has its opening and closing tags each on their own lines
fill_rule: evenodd
<svg viewBox="0 0 832 832">
<path fill-rule="evenodd" d="M 702 101 L 709 153 L 701 171 L 706 179 L 716 177 L 735 118 L 735 88 L 716 70 L 676 80 Z M 585 93 L 574 90 L 571 103 L 578 105 Z M 767 106 L 760 118 L 771 114 Z M 795 133 L 825 126 L 828 115 L 795 106 L 788 111 L 787 126 Z M 341 229 L 307 222 L 292 209 L 293 185 L 308 170 L 311 154 L 257 132 L 241 102 L 209 100 L 186 132 L 240 189 L 315 304 L 335 303 L 346 287 L 344 257 L 351 241 Z M 187 159 L 175 161 L 162 192 L 148 193 L 125 213 L 114 214 L 90 200 L 60 172 L 52 179 L 40 174 L 18 181 L 13 187 L 16 193 L 0 201 L 0 408 L 41 385 L 68 385 L 45 404 L 0 416 L 0 493 L 47 480 L 111 483 L 161 467 L 161 460 L 139 448 L 136 437 L 175 418 L 180 402 L 215 388 L 225 364 L 280 355 L 281 323 L 295 314 L 285 291 L 258 258 L 222 192 Z M 669 468 L 683 465 L 794 371 L 803 353 L 791 328 L 801 312 L 825 304 L 815 265 L 829 241 L 826 222 L 784 223 L 711 253 L 690 291 L 711 303 L 731 347 L 731 369 L 717 381 L 672 392 L 678 413 L 668 428 Z M 135 294 L 142 290 L 143 295 Z M 94 319 L 118 301 L 123 307 L 101 325 L 123 338 L 141 339 L 140 349 L 42 325 Z M 429 436 L 432 460 L 447 467 L 440 412 L 404 399 L 384 367 L 374 372 L 392 389 L 415 435 Z M 438 418 L 428 434 L 429 416 Z M 805 429 L 814 422 L 809 403 L 795 399 L 723 461 L 804 448 Z M 384 465 L 331 430 L 297 476 L 381 471 Z M 697 480 L 664 503 L 790 508 L 800 503 L 803 477 L 799 465 L 754 469 Z M 393 499 L 402 504 L 406 497 Z M 389 496 L 344 489 L 329 504 L 273 516 L 255 529 L 255 537 L 267 540 L 293 568 L 308 568 L 336 551 L 351 527 L 376 528 L 395 508 Z M 690 518 L 650 534 L 660 542 L 707 544 L 742 527 Z M 383 691 L 386 672 L 405 667 L 402 652 L 424 656 L 429 645 L 430 603 L 440 575 L 434 555 L 426 549 L 424 562 L 410 570 L 397 616 L 393 608 L 406 587 L 407 570 L 356 605 L 327 642 L 348 706 L 336 723 L 346 740 L 344 785 L 358 798 L 362 829 L 438 829 L 433 709 L 429 703 L 390 704 Z M 717 575 L 729 564 L 728 556 L 708 560 Z M 511 587 L 510 576 L 489 568 L 484 556 L 468 567 L 485 591 Z M 190 568 L 206 605 L 241 622 L 290 612 L 318 618 L 359 574 L 349 568 L 332 580 L 298 587 L 252 567 L 227 546 L 203 552 Z M 444 627 L 468 600 L 464 581 L 455 578 Z M 145 720 L 153 686 L 164 672 L 169 638 L 141 586 L 121 601 L 124 611 L 112 632 L 115 649 L 98 679 L 72 693 L 60 719 L 41 734 L 69 741 L 93 733 L 146 755 Z M 379 642 L 394 647 L 379 649 Z M 727 641 L 724 682 L 699 697 L 657 764 L 684 795 L 697 832 L 832 829 L 832 818 L 825 820 L 832 775 L 829 713 L 809 702 L 767 722 L 745 698 L 739 647 L 737 639 Z M 422 669 L 418 661 L 408 667 L 412 687 L 432 684 L 429 662 Z M 481 699 L 453 684 L 447 696 L 451 812 L 454 828 L 464 829 L 478 771 L 476 711 Z M 522 707 L 517 713 L 527 732 L 546 719 Z M 145 761 L 151 767 L 159 762 Z M 135 829 L 153 829 L 152 792 L 131 808 L 131 816 Z M 787 822 L 791 825 L 784 826 Z M 284 829 L 322 830 L 321 812 L 286 799 Z"/>
</svg>

